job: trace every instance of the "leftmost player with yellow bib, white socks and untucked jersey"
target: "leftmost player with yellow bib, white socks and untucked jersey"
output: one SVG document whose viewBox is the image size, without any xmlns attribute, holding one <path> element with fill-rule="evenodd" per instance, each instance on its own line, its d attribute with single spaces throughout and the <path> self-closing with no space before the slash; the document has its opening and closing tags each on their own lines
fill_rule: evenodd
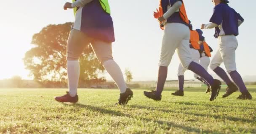
<svg viewBox="0 0 256 134">
<path fill-rule="evenodd" d="M 67 75 L 69 92 L 56 97 L 59 102 L 76 103 L 80 75 L 79 57 L 91 44 L 96 57 L 116 82 L 120 97 L 119 105 L 126 105 L 133 96 L 127 88 L 122 71 L 112 57 L 112 42 L 115 41 L 114 27 L 108 0 L 73 0 L 66 3 L 64 10 L 74 8 L 75 23 L 67 41 Z"/>
</svg>

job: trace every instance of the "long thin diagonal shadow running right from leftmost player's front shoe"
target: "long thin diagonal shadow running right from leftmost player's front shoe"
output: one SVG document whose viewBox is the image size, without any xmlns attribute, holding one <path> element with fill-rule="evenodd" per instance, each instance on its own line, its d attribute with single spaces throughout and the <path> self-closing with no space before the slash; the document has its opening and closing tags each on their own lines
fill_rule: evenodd
<svg viewBox="0 0 256 134">
<path fill-rule="evenodd" d="M 153 122 L 155 122 L 157 124 L 161 124 L 161 125 L 166 124 L 166 125 L 168 125 L 168 128 L 166 128 L 166 131 L 168 131 L 172 127 L 174 127 L 174 128 L 183 129 L 183 130 L 188 131 L 188 132 L 196 132 L 196 133 L 212 133 L 212 132 L 217 132 L 218 134 L 224 134 L 221 131 L 201 130 L 201 129 L 196 128 L 196 127 L 175 124 L 175 123 L 170 122 L 170 121 L 152 120 L 152 119 L 143 118 L 143 117 L 140 117 L 140 116 L 136 116 L 135 117 L 135 116 L 132 116 L 130 114 L 124 114 L 124 113 L 121 113 L 121 112 L 118 112 L 118 111 L 107 110 L 107 109 L 104 109 L 104 108 L 90 106 L 90 105 L 84 105 L 84 104 L 80 104 L 80 103 L 75 103 L 75 104 L 72 104 L 72 105 L 65 104 L 65 103 L 63 103 L 63 104 L 66 105 L 66 106 L 75 106 L 75 107 L 79 107 L 79 108 L 87 108 L 87 109 L 89 109 L 91 111 L 96 111 L 96 112 L 100 112 L 100 113 L 103 113 L 103 114 L 109 114 L 109 115 L 112 115 L 112 116 L 125 116 L 125 117 L 129 117 L 129 118 L 132 118 L 132 119 L 136 118 L 136 119 L 141 119 L 141 120 L 148 121 L 148 122 L 153 121 Z M 140 107 L 140 106 L 131 106 L 131 107 L 144 108 L 144 107 Z M 150 108 L 147 108 L 147 109 L 150 109 Z"/>
</svg>

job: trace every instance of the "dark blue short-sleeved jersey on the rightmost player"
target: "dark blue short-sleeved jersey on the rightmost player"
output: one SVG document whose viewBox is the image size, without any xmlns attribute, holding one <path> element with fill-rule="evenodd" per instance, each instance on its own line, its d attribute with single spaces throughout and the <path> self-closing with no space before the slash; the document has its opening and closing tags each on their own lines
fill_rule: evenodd
<svg viewBox="0 0 256 134">
<path fill-rule="evenodd" d="M 237 13 L 233 8 L 230 8 L 229 5 L 221 3 L 216 5 L 213 10 L 213 15 L 210 19 L 210 22 L 216 23 L 218 27 L 215 28 L 215 37 L 224 36 L 224 35 L 235 35 L 239 34 L 238 32 L 238 21 L 244 21 L 242 16 Z"/>
</svg>

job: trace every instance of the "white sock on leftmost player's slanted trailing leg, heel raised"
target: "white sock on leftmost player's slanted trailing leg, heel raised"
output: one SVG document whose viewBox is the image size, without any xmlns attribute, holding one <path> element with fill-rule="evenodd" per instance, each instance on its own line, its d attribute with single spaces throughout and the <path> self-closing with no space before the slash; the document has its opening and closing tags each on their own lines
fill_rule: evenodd
<svg viewBox="0 0 256 134">
<path fill-rule="evenodd" d="M 114 60 L 108 60 L 103 63 L 103 66 L 117 84 L 120 92 L 125 93 L 127 86 L 123 78 L 123 73 L 118 64 Z"/>
</svg>

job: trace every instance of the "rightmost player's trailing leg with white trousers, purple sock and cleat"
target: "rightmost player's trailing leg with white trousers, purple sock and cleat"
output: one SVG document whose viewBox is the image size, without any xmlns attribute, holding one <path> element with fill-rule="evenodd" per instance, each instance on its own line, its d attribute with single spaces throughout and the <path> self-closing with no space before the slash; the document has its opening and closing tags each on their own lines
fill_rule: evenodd
<svg viewBox="0 0 256 134">
<path fill-rule="evenodd" d="M 227 72 L 231 76 L 232 80 L 238 86 L 242 93 L 237 99 L 252 99 L 251 94 L 248 92 L 242 77 L 237 72 L 235 63 L 235 50 L 237 49 L 238 43 L 235 36 L 223 36 L 220 38 L 220 52 L 223 58 L 224 65 Z"/>
</svg>

